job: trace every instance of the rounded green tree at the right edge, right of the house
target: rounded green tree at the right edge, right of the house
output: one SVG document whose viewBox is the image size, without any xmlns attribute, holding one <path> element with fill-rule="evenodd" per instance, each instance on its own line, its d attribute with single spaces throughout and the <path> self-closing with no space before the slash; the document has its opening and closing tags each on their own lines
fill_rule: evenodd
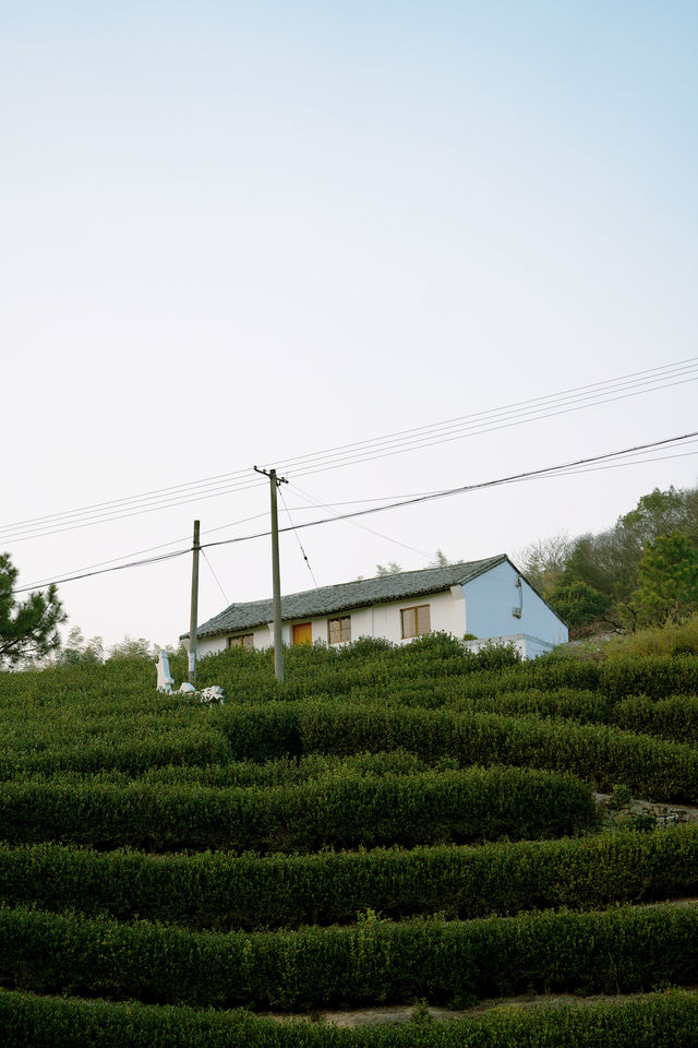
<svg viewBox="0 0 698 1048">
<path fill-rule="evenodd" d="M 661 624 L 698 610 L 698 550 L 683 532 L 660 535 L 646 548 L 639 580 L 624 608 L 633 626 Z"/>
</svg>

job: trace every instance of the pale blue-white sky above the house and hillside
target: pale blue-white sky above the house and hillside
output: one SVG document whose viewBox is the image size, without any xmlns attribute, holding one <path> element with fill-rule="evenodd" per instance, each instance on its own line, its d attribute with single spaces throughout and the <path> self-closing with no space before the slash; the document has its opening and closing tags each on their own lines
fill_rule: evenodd
<svg viewBox="0 0 698 1048">
<path fill-rule="evenodd" d="M 698 362 L 697 49 L 693 0 L 0 0 L 20 585 L 268 529 L 255 464 L 288 526 L 698 430 L 690 366 L 657 370 Z M 286 533 L 282 592 L 602 531 L 697 449 Z M 268 537 L 210 547 L 200 621 L 270 586 Z M 59 592 L 165 645 L 190 588 L 185 553 Z"/>
</svg>

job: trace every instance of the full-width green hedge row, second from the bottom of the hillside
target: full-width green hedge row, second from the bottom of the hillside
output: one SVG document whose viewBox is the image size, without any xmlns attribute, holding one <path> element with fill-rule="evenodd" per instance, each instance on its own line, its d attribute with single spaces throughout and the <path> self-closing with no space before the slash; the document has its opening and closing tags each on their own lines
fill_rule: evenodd
<svg viewBox="0 0 698 1048">
<path fill-rule="evenodd" d="M 471 921 L 197 932 L 0 907 L 10 989 L 152 1004 L 306 1011 L 467 1007 L 525 990 L 623 993 L 698 980 L 698 906 L 544 912 Z"/>
</svg>

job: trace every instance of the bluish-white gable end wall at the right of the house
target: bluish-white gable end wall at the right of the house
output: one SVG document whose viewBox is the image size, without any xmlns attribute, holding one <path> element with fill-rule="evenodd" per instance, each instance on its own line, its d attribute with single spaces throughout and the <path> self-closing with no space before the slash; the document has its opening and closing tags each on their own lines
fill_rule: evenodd
<svg viewBox="0 0 698 1048">
<path fill-rule="evenodd" d="M 478 638 L 527 633 L 552 644 L 568 640 L 565 623 L 557 618 L 516 569 L 504 561 L 464 585 L 466 632 Z M 513 609 L 520 609 L 520 617 Z M 462 634 L 461 634 L 462 635 Z"/>
</svg>

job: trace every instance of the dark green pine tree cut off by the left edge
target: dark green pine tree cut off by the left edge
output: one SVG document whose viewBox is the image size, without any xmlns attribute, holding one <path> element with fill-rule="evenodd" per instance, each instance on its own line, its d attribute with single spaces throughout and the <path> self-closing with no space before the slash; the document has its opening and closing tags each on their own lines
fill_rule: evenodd
<svg viewBox="0 0 698 1048">
<path fill-rule="evenodd" d="M 44 658 L 57 652 L 58 627 L 68 616 L 56 586 L 15 600 L 19 571 L 9 553 L 0 553 L 0 667 L 11 668 L 24 659 Z"/>
</svg>

